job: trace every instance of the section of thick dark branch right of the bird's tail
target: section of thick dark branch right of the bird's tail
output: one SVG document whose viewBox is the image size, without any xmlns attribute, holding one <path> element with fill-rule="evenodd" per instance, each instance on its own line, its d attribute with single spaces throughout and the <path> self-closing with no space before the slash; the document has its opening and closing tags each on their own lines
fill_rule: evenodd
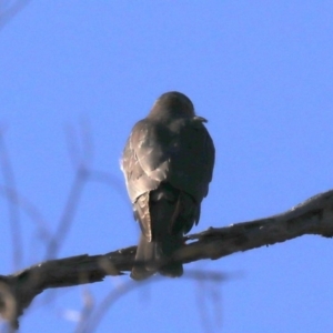
<svg viewBox="0 0 333 333">
<path fill-rule="evenodd" d="M 219 259 L 235 252 L 282 243 L 304 234 L 333 236 L 333 191 L 310 198 L 291 210 L 266 219 L 210 228 L 189 235 L 198 240 L 179 252 L 174 260 L 191 262 Z"/>
</svg>

